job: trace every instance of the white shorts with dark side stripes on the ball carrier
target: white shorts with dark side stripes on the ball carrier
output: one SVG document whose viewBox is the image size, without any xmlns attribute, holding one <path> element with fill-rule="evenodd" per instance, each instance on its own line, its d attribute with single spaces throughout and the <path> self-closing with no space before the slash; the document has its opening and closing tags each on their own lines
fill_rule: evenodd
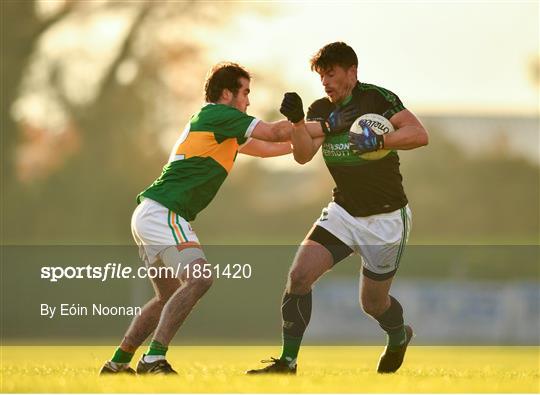
<svg viewBox="0 0 540 395">
<path fill-rule="evenodd" d="M 362 257 L 365 269 L 375 274 L 395 271 L 412 224 L 409 206 L 390 213 L 353 217 L 343 207 L 331 202 L 323 209 L 318 225 Z"/>
</svg>

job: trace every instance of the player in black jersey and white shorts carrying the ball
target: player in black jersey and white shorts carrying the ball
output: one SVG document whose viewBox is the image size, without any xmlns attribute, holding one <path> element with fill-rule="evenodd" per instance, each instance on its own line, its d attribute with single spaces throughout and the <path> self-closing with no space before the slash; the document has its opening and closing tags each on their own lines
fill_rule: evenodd
<svg viewBox="0 0 540 395">
<path fill-rule="evenodd" d="M 412 338 L 401 304 L 389 294 L 411 226 L 397 151 L 427 145 L 428 133 L 394 93 L 359 82 L 357 67 L 358 58 L 350 46 L 328 44 L 311 59 L 311 69 L 320 75 L 327 97 L 309 107 L 307 121 L 298 94 L 286 93 L 283 98 L 280 111 L 294 124 L 295 160 L 309 162 L 322 146 L 336 187 L 332 202 L 308 232 L 289 272 L 281 305 L 282 355 L 249 374 L 296 373 L 300 343 L 311 316 L 312 286 L 353 253 L 362 259 L 362 308 L 387 333 L 377 371 L 398 370 Z M 364 114 L 383 116 L 395 131 L 379 135 L 363 125 L 361 134 L 349 132 L 353 121 Z M 378 155 L 370 156 L 373 152 Z"/>
</svg>

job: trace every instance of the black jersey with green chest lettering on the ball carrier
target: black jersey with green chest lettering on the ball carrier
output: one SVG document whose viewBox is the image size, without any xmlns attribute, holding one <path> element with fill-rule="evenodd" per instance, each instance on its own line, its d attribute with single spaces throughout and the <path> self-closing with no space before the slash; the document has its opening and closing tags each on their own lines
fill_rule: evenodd
<svg viewBox="0 0 540 395">
<path fill-rule="evenodd" d="M 392 92 L 371 84 L 357 83 L 352 102 L 360 115 L 375 113 L 390 119 L 405 109 Z M 336 105 L 328 98 L 309 107 L 307 120 L 328 118 Z M 324 161 L 336 183 L 334 201 L 354 217 L 388 213 L 407 204 L 396 151 L 378 160 L 366 160 L 349 150 L 348 133 L 326 136 L 322 144 Z"/>
</svg>

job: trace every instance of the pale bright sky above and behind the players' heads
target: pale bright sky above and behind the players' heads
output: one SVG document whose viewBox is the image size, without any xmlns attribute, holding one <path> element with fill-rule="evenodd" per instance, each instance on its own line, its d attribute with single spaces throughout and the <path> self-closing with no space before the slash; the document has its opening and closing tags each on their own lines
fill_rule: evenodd
<svg viewBox="0 0 540 395">
<path fill-rule="evenodd" d="M 417 112 L 536 115 L 538 4 L 270 3 L 267 16 L 247 8 L 220 34 L 206 30 L 205 41 L 210 62 L 279 70 L 306 101 L 322 94 L 309 58 L 329 42 L 345 41 L 358 54 L 361 81 L 396 92 Z"/>
</svg>

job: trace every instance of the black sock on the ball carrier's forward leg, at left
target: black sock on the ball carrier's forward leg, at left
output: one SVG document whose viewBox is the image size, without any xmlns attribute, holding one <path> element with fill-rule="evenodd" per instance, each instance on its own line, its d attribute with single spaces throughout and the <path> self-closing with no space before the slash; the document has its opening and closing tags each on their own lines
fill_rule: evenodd
<svg viewBox="0 0 540 395">
<path fill-rule="evenodd" d="M 285 293 L 281 303 L 283 351 L 280 359 L 294 362 L 311 318 L 311 291 L 306 295 Z"/>
</svg>

